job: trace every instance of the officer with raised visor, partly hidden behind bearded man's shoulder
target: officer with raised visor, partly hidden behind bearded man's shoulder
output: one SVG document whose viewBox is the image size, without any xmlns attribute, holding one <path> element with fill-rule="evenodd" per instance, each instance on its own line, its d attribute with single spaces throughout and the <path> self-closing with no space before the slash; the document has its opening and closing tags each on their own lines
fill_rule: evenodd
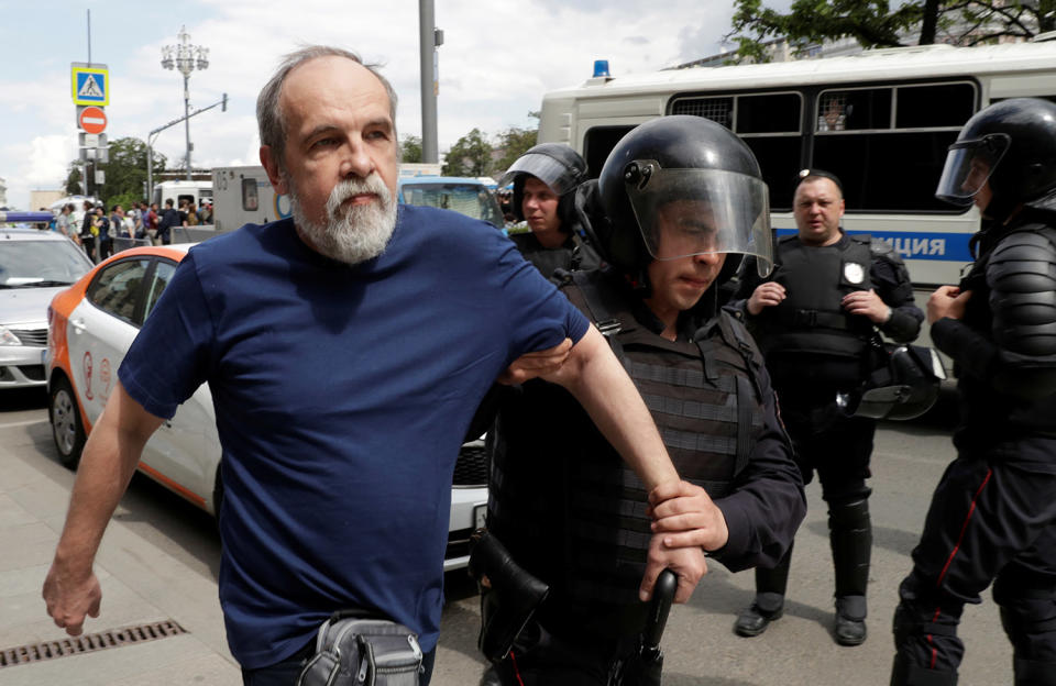
<svg viewBox="0 0 1056 686">
<path fill-rule="evenodd" d="M 579 153 L 560 143 L 540 143 L 518 157 L 498 182 L 514 182 L 514 215 L 531 230 L 509 237 L 548 278 L 556 269 L 601 266 L 586 219 L 575 204 L 575 189 L 585 180 L 586 163 Z"/>
</svg>

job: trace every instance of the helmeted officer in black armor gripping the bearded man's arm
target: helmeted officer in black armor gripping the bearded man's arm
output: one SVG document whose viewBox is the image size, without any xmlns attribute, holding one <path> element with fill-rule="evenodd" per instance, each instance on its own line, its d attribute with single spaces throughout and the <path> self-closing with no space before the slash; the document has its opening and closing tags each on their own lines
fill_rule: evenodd
<svg viewBox="0 0 1056 686">
<path fill-rule="evenodd" d="M 685 482 L 650 529 L 641 484 L 571 396 L 532 380 L 507 398 L 488 529 L 550 595 L 485 683 L 618 684 L 646 621 L 652 531 L 741 569 L 776 564 L 805 513 L 762 356 L 717 307 L 741 255 L 770 261 L 751 151 L 710 120 L 663 117 L 628 133 L 580 199 L 609 266 L 565 273 L 562 288 L 635 379 Z"/>
</svg>

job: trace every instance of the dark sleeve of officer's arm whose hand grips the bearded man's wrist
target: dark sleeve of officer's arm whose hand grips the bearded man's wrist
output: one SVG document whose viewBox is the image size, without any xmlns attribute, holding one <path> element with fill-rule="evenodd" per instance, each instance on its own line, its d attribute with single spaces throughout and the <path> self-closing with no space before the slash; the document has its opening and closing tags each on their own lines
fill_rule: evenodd
<svg viewBox="0 0 1056 686">
<path fill-rule="evenodd" d="M 726 519 L 729 539 L 711 556 L 732 572 L 776 566 L 806 516 L 803 477 L 792 461 L 792 442 L 762 367 L 759 386 L 763 395 L 762 432 L 737 476 L 734 491 L 715 500 Z"/>
</svg>

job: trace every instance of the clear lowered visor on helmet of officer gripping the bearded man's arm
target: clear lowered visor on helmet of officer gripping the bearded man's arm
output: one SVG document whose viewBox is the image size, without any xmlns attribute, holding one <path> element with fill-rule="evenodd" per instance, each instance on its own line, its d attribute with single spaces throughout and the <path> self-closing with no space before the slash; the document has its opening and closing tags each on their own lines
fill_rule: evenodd
<svg viewBox="0 0 1056 686">
<path fill-rule="evenodd" d="M 723 169 L 663 169 L 653 161 L 638 161 L 625 168 L 624 182 L 653 258 L 740 253 L 757 257 L 760 276 L 770 274 L 770 202 L 760 179 Z"/>
</svg>

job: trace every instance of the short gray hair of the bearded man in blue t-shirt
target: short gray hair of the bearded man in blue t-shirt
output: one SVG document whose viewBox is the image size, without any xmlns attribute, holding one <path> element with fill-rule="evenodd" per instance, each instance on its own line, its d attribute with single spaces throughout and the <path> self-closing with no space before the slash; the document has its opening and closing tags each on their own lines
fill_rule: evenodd
<svg viewBox="0 0 1056 686">
<path fill-rule="evenodd" d="M 355 64 L 366 67 L 382 82 L 385 92 L 388 95 L 388 114 L 393 120 L 393 143 L 396 146 L 396 158 L 399 161 L 403 151 L 399 140 L 396 137 L 396 91 L 393 90 L 393 85 L 378 71 L 378 65 L 363 64 L 363 60 L 355 53 L 329 45 L 309 45 L 283 57 L 275 75 L 264 85 L 261 95 L 256 98 L 256 124 L 261 131 L 261 145 L 271 147 L 272 158 L 276 161 L 279 168 L 285 168 L 286 122 L 283 121 L 283 110 L 278 106 L 278 98 L 283 92 L 283 84 L 286 82 L 289 73 L 306 62 L 319 57 L 351 59 Z"/>
</svg>

